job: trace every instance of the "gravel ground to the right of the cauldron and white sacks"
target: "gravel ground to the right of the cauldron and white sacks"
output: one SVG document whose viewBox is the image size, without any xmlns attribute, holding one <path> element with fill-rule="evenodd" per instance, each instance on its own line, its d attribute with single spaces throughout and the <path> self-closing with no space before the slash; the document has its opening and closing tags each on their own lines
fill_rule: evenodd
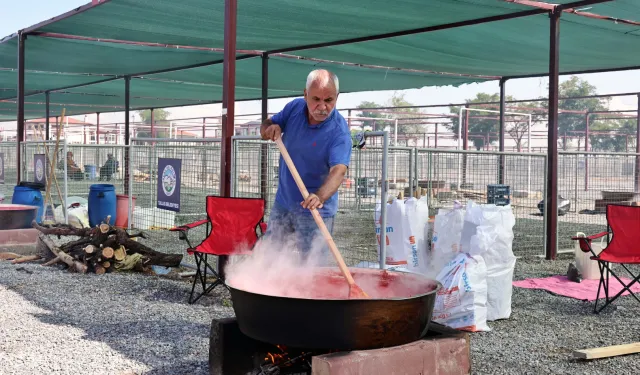
<svg viewBox="0 0 640 375">
<path fill-rule="evenodd" d="M 514 279 L 564 275 L 572 256 L 555 262 L 519 259 Z M 627 276 L 624 272 L 618 275 Z M 593 302 L 513 288 L 512 309 L 510 319 L 489 323 L 491 332 L 472 334 L 474 374 L 637 373 L 640 355 L 594 361 L 572 358 L 576 349 L 640 341 L 640 304 L 633 297 L 621 297 L 600 314 L 593 314 Z"/>
</svg>

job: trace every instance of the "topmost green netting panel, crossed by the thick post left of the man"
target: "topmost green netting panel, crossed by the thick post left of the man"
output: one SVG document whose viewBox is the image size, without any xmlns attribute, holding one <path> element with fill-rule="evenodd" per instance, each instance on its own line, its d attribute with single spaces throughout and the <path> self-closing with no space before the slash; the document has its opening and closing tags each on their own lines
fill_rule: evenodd
<svg viewBox="0 0 640 375">
<path fill-rule="evenodd" d="M 222 48 L 222 0 L 111 0 L 41 31 Z M 238 49 L 276 48 L 440 25 L 530 8 L 487 0 L 242 0 Z"/>
</svg>

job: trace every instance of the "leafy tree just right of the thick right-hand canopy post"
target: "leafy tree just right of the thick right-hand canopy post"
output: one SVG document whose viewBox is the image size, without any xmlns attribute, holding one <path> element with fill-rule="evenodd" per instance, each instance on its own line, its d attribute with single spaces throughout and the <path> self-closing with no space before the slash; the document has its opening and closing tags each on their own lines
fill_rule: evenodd
<svg viewBox="0 0 640 375">
<path fill-rule="evenodd" d="M 561 98 L 574 98 L 597 94 L 595 86 L 576 76 L 572 76 L 569 80 L 562 82 L 558 87 L 558 92 Z M 563 150 L 567 150 L 569 140 L 578 137 L 575 132 L 584 132 L 586 130 L 585 112 L 604 111 L 609 108 L 610 101 L 610 97 L 559 100 L 559 109 L 577 112 L 558 114 L 558 134 L 564 136 L 559 141 L 560 147 Z M 542 101 L 542 107 L 548 110 L 549 102 L 546 100 Z M 580 137 L 578 137 L 578 139 L 580 139 Z"/>
</svg>

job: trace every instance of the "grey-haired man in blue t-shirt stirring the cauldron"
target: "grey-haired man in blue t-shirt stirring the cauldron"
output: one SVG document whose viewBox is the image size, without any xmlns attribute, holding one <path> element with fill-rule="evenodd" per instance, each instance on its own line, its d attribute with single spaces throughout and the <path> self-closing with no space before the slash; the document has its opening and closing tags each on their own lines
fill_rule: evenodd
<svg viewBox="0 0 640 375">
<path fill-rule="evenodd" d="M 266 235 L 275 236 L 275 241 L 283 245 L 294 235 L 295 245 L 303 255 L 308 256 L 313 250 L 317 252 L 313 258 L 323 263 L 328 260 L 328 247 L 309 210 L 317 209 L 327 229 L 333 231 L 338 188 L 351 159 L 349 126 L 335 109 L 338 94 L 338 77 L 327 70 L 314 70 L 307 77 L 304 98 L 287 103 L 260 127 L 262 139 L 282 137 L 309 191 L 309 197 L 303 199 L 281 156 L 278 191 Z"/>
</svg>

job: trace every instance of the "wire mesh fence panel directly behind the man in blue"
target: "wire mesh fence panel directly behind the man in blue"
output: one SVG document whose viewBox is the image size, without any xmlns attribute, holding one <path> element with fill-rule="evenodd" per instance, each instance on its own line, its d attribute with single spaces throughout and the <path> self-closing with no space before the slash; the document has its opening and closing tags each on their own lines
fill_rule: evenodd
<svg viewBox="0 0 640 375">
<path fill-rule="evenodd" d="M 265 218 L 268 219 L 278 188 L 278 148 L 273 142 L 260 141 L 254 137 L 234 137 L 233 150 L 234 195 L 264 197 L 263 194 L 266 192 Z M 408 173 L 411 168 L 402 161 L 402 157 L 408 161 L 411 149 L 405 148 L 397 152 L 397 175 L 404 176 L 398 179 L 408 181 L 404 173 Z M 382 195 L 383 156 L 380 147 L 353 149 L 350 168 L 338 189 L 338 213 L 335 217 L 333 237 L 345 262 L 351 266 L 378 263 L 374 213 Z"/>
</svg>

